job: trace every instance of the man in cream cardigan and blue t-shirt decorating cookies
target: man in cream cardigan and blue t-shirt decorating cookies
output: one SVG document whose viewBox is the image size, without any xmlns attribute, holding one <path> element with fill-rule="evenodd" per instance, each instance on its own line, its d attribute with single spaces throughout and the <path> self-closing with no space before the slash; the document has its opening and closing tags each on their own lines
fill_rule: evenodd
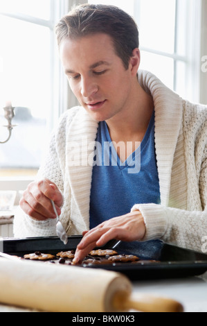
<svg viewBox="0 0 207 326">
<path fill-rule="evenodd" d="M 46 163 L 20 201 L 15 235 L 55 235 L 54 200 L 66 232 L 84 234 L 75 262 L 110 239 L 162 239 L 200 251 L 206 107 L 138 70 L 136 24 L 116 7 L 78 6 L 56 33 L 80 107 L 60 119 Z"/>
</svg>

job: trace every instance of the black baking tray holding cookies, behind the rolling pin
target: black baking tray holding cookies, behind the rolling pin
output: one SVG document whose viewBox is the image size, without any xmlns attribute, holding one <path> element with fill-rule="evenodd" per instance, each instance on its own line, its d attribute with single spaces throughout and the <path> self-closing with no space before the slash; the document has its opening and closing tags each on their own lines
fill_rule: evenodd
<svg viewBox="0 0 207 326">
<path fill-rule="evenodd" d="M 1 250 L 3 248 L 3 252 L 9 255 L 19 257 L 37 250 L 56 254 L 59 251 L 75 250 L 81 239 L 80 236 L 69 237 L 69 242 L 65 246 L 57 237 L 4 238 L 0 240 L 0 248 Z M 103 268 L 116 271 L 127 275 L 130 280 L 190 277 L 207 271 L 207 255 L 204 253 L 172 246 L 160 240 L 118 244 L 116 241 L 109 241 L 102 248 L 114 248 L 114 246 L 120 254 L 137 255 L 142 263 L 116 263 L 115 265 L 80 266 L 80 268 Z"/>
</svg>

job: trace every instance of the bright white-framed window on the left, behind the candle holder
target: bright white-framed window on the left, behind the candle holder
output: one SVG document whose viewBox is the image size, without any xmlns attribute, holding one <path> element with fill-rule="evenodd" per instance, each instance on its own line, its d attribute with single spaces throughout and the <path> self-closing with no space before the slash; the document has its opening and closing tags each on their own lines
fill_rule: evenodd
<svg viewBox="0 0 207 326">
<path fill-rule="evenodd" d="M 1 110 L 6 101 L 15 107 L 17 125 L 0 144 L 0 177 L 35 175 L 48 136 L 67 108 L 54 27 L 68 3 L 0 0 L 0 141 L 7 137 Z"/>
</svg>

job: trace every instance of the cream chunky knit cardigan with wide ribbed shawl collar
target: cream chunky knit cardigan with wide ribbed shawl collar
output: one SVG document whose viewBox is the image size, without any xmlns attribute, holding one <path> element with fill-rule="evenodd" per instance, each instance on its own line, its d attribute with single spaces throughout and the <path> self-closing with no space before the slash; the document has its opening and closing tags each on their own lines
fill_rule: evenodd
<svg viewBox="0 0 207 326">
<path fill-rule="evenodd" d="M 161 191 L 161 205 L 132 207 L 140 209 L 145 219 L 143 240 L 162 239 L 201 251 L 203 237 L 207 237 L 207 107 L 184 101 L 150 72 L 138 71 L 138 82 L 154 99 Z M 37 175 L 52 180 L 62 191 L 60 218 L 69 235 L 89 230 L 89 160 L 93 160 L 97 128 L 98 123 L 84 108 L 68 110 L 53 133 L 46 162 Z M 80 148 L 87 151 L 80 154 Z M 14 221 L 15 237 L 53 236 L 55 223 L 52 219 L 37 221 L 19 209 Z"/>
</svg>

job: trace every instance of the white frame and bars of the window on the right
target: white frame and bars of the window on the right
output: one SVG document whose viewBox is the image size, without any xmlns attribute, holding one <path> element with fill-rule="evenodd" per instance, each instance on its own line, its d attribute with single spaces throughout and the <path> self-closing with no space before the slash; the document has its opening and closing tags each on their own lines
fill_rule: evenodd
<svg viewBox="0 0 207 326">
<path fill-rule="evenodd" d="M 202 102 L 204 98 L 201 96 L 201 12 L 202 3 L 204 6 L 204 0 L 186 0 L 186 8 L 188 13 L 186 14 L 186 31 L 190 31 L 190 37 L 186 35 L 186 55 L 179 55 L 177 53 L 177 40 L 180 24 L 178 24 L 179 17 L 179 1 L 175 1 L 175 31 L 174 31 L 174 53 L 167 53 L 158 51 L 144 46 L 140 46 L 141 51 L 161 55 L 163 57 L 171 58 L 174 61 L 174 76 L 173 76 L 173 90 L 178 92 L 177 89 L 177 62 L 183 62 L 186 65 L 186 98 L 193 102 Z M 181 0 L 182 1 L 182 0 Z M 141 8 L 141 1 L 134 1 L 134 18 L 139 26 L 139 12 Z M 136 12 L 138 13 L 136 15 Z M 181 16 L 181 15 L 180 15 Z M 203 18 L 204 22 L 204 18 Z M 196 28 L 194 28 L 196 26 Z M 204 37 L 203 37 L 204 42 Z M 204 93 L 204 92 L 203 92 Z M 181 95 L 181 94 L 179 94 Z"/>
</svg>

